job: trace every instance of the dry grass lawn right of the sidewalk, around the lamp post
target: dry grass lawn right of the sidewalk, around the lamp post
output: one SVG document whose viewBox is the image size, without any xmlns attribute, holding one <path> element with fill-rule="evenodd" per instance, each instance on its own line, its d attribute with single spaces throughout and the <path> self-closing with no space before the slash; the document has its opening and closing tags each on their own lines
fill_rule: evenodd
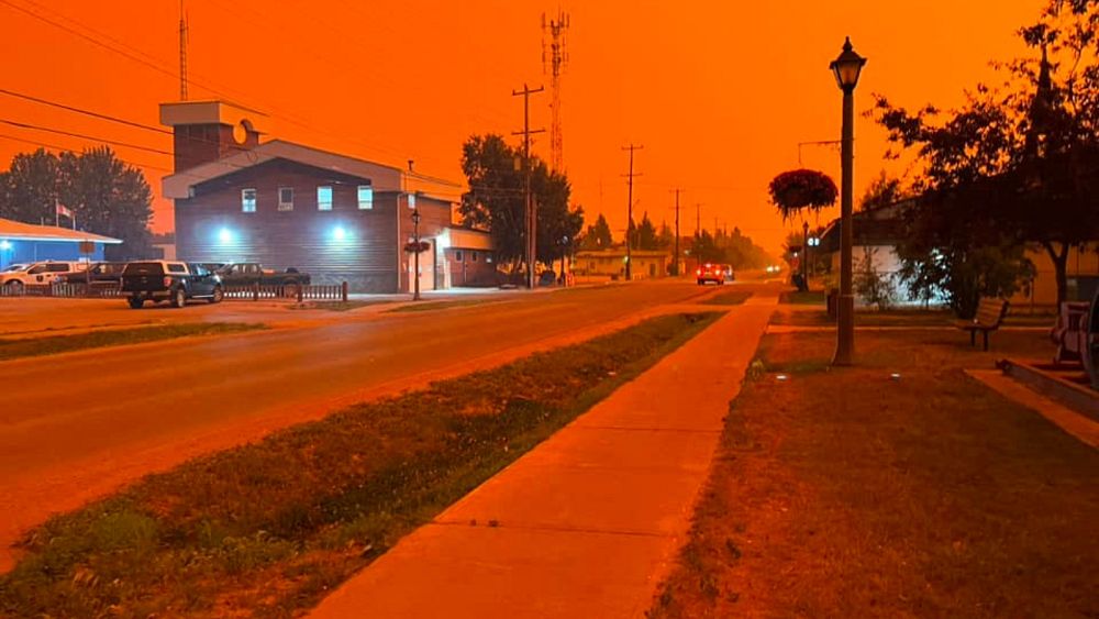
<svg viewBox="0 0 1099 619">
<path fill-rule="evenodd" d="M 766 336 L 651 616 L 1099 616 L 1099 454 L 966 377 L 995 357 L 951 335 L 861 333 L 831 372 L 831 334 Z"/>
</svg>

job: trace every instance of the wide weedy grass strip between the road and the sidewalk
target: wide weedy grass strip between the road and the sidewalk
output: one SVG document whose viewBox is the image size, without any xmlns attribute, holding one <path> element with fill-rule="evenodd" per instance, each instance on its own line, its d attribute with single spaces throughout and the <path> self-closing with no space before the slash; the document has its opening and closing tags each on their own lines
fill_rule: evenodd
<svg viewBox="0 0 1099 619">
<path fill-rule="evenodd" d="M 718 316 L 653 318 L 147 476 L 30 533 L 0 615 L 292 616 Z"/>
</svg>

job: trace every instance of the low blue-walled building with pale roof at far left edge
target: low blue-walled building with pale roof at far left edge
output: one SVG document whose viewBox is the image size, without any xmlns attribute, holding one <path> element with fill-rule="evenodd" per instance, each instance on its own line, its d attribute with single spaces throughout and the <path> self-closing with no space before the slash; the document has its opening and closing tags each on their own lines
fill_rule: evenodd
<svg viewBox="0 0 1099 619">
<path fill-rule="evenodd" d="M 0 268 L 41 261 L 102 261 L 104 246 L 121 243 L 68 228 L 0 219 Z"/>
</svg>

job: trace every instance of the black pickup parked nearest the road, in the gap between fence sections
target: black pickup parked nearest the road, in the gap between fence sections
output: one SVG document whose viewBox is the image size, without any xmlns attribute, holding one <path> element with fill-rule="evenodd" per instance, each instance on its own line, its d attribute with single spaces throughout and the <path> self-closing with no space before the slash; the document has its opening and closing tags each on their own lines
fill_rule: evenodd
<svg viewBox="0 0 1099 619">
<path fill-rule="evenodd" d="M 145 301 L 168 301 L 175 308 L 189 299 L 217 303 L 224 297 L 221 277 L 199 264 L 174 261 L 132 262 L 122 272 L 122 296 L 133 309 Z"/>
</svg>

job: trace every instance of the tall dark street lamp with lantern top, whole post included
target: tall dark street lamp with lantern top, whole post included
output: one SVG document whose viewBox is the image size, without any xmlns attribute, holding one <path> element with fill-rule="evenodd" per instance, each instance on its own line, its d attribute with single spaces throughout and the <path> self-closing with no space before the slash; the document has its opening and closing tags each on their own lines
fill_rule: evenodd
<svg viewBox="0 0 1099 619">
<path fill-rule="evenodd" d="M 855 86 L 866 58 L 851 46 L 851 37 L 843 44 L 843 52 L 832 60 L 829 68 L 835 75 L 836 85 L 843 91 L 843 135 L 840 144 L 842 180 L 840 190 L 840 303 L 836 321 L 836 345 L 832 365 L 851 365 L 855 352 L 855 295 L 852 286 L 852 210 L 854 205 L 855 162 Z"/>
</svg>

